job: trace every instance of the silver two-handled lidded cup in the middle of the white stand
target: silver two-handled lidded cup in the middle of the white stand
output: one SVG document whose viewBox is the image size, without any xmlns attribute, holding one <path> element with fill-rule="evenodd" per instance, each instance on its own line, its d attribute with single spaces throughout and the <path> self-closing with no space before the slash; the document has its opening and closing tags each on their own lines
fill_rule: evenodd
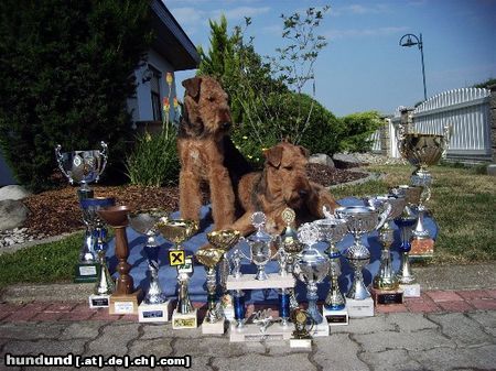
<svg viewBox="0 0 496 371">
<path fill-rule="evenodd" d="M 273 238 L 265 230 L 266 220 L 263 212 L 254 212 L 251 223 L 257 231 L 247 239 L 250 245 L 250 261 L 257 265 L 255 280 L 259 281 L 268 280 L 266 264 L 273 258 L 270 252 Z"/>
</svg>

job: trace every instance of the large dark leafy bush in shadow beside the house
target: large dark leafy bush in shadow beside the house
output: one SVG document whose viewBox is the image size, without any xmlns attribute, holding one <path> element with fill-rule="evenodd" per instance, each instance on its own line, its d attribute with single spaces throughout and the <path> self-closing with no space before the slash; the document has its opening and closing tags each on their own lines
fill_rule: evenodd
<svg viewBox="0 0 496 371">
<path fill-rule="evenodd" d="M 109 172 L 122 162 L 126 98 L 150 24 L 148 0 L 0 2 L 0 148 L 19 182 L 53 186 L 57 143 L 93 150 L 104 140 Z"/>
</svg>

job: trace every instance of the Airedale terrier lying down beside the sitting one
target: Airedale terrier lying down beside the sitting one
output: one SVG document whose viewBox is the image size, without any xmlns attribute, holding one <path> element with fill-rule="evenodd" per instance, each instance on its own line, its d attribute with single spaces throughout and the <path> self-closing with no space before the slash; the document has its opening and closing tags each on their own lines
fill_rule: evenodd
<svg viewBox="0 0 496 371">
<path fill-rule="evenodd" d="M 233 225 L 244 236 L 254 231 L 251 215 L 263 211 L 267 230 L 281 233 L 285 227 L 281 214 L 290 207 L 296 214 L 296 226 L 323 218 L 322 207 L 338 207 L 331 193 L 309 181 L 305 166 L 309 151 L 300 145 L 282 142 L 265 152 L 262 172 L 246 174 L 238 186 L 237 196 L 245 214 Z"/>
</svg>

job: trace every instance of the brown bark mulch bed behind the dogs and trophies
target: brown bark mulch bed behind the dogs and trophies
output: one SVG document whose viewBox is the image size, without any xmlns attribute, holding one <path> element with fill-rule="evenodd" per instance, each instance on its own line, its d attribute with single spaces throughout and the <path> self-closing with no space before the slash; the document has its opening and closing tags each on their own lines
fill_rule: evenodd
<svg viewBox="0 0 496 371">
<path fill-rule="evenodd" d="M 311 181 L 326 187 L 366 176 L 364 173 L 330 168 L 320 164 L 309 164 L 308 174 Z M 127 205 L 134 210 L 158 207 L 172 212 L 179 209 L 176 186 L 155 188 L 91 185 L 91 188 L 95 196 L 115 197 L 117 205 Z M 24 199 L 24 204 L 31 211 L 24 227 L 28 227 L 31 233 L 40 232 L 45 236 L 57 236 L 82 229 L 84 225 L 76 190 L 77 187 L 66 186 Z"/>
</svg>

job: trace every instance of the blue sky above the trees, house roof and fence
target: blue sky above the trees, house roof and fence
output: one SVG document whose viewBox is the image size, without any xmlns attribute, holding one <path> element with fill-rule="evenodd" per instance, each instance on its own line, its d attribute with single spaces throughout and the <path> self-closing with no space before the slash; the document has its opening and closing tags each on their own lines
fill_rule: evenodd
<svg viewBox="0 0 496 371">
<path fill-rule="evenodd" d="M 224 13 L 231 29 L 252 23 L 260 55 L 283 45 L 281 13 L 331 6 L 316 34 L 328 42 L 315 63 L 315 99 L 334 114 L 377 110 L 423 100 L 421 53 L 402 47 L 402 35 L 423 40 L 427 96 L 496 77 L 496 0 L 163 0 L 195 45 L 209 47 L 208 20 Z M 195 70 L 180 72 L 177 81 Z M 177 84 L 177 95 L 184 90 Z M 308 85 L 308 92 L 311 86 Z"/>
</svg>

